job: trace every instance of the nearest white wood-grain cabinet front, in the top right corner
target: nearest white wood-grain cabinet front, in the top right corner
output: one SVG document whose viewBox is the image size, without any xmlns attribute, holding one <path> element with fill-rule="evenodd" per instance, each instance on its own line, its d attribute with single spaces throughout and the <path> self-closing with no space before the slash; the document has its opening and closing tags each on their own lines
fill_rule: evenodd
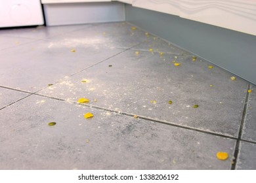
<svg viewBox="0 0 256 183">
<path fill-rule="evenodd" d="M 256 35 L 256 1 L 181 0 L 180 16 Z"/>
</svg>

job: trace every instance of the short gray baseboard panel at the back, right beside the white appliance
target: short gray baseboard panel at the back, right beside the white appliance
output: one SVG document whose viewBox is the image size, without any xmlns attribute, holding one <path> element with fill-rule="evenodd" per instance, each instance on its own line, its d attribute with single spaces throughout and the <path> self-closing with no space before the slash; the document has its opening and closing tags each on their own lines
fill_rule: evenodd
<svg viewBox="0 0 256 183">
<path fill-rule="evenodd" d="M 125 6 L 119 2 L 44 4 L 45 23 L 74 25 L 125 21 Z"/>
</svg>

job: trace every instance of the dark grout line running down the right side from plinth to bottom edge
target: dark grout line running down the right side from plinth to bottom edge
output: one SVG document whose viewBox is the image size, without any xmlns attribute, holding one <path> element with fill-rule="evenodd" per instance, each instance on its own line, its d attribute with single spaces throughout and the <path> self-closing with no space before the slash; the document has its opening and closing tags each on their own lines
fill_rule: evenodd
<svg viewBox="0 0 256 183">
<path fill-rule="evenodd" d="M 251 87 L 251 85 L 248 84 L 247 86 L 247 90 L 249 90 Z M 236 140 L 236 148 L 234 151 L 234 163 L 232 163 L 232 170 L 236 169 L 236 163 L 237 163 L 237 159 L 238 159 L 238 154 L 239 154 L 239 148 L 240 148 L 240 141 L 241 137 L 242 137 L 242 133 L 243 133 L 243 128 L 244 128 L 244 120 L 245 120 L 245 116 L 246 116 L 246 112 L 247 112 L 247 103 L 248 103 L 248 99 L 249 99 L 249 93 L 246 90 L 246 96 L 245 96 L 245 101 L 244 101 L 244 109 L 243 109 L 243 114 L 242 114 L 242 119 L 241 119 L 241 124 L 240 124 L 240 130 L 238 133 L 238 139 Z"/>
</svg>

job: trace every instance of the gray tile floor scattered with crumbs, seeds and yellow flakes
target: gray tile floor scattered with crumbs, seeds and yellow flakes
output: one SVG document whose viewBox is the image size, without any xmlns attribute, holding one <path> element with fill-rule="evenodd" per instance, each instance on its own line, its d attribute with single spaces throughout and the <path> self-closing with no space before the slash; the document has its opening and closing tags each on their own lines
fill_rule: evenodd
<svg viewBox="0 0 256 183">
<path fill-rule="evenodd" d="M 192 59 L 125 22 L 1 29 L 0 169 L 256 169 L 255 86 Z"/>
</svg>

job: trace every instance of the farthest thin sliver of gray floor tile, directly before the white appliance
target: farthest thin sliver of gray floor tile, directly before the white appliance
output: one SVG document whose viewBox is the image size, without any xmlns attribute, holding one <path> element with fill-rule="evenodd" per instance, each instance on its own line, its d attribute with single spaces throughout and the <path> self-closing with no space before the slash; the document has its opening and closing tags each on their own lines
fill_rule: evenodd
<svg viewBox="0 0 256 183">
<path fill-rule="evenodd" d="M 51 37 L 57 37 L 64 33 L 76 31 L 79 29 L 85 29 L 91 27 L 92 24 L 85 25 L 63 25 L 63 26 L 37 26 L 37 27 L 27 27 L 18 29 L 0 29 L 0 39 L 1 36 L 9 37 L 19 37 L 19 38 L 29 38 L 29 39 L 49 39 Z"/>
</svg>

